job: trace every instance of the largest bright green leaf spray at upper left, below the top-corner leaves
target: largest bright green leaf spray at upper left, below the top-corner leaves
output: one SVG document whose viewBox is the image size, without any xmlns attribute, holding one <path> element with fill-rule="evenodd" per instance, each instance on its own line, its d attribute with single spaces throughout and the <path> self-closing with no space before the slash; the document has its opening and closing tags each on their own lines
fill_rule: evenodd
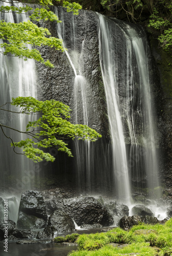
<svg viewBox="0 0 172 256">
<path fill-rule="evenodd" d="M 52 68 L 53 65 L 50 61 L 44 61 L 39 51 L 36 49 L 30 50 L 26 46 L 26 44 L 47 45 L 63 51 L 62 40 L 55 37 L 47 37 L 49 35 L 48 29 L 38 28 L 30 20 L 19 24 L 6 23 L 4 20 L 0 20 L 0 38 L 8 40 L 8 42 L 0 44 L 1 48 L 5 48 L 3 52 L 5 55 L 10 53 L 14 56 L 24 57 L 24 59 L 33 58 Z"/>
</svg>

